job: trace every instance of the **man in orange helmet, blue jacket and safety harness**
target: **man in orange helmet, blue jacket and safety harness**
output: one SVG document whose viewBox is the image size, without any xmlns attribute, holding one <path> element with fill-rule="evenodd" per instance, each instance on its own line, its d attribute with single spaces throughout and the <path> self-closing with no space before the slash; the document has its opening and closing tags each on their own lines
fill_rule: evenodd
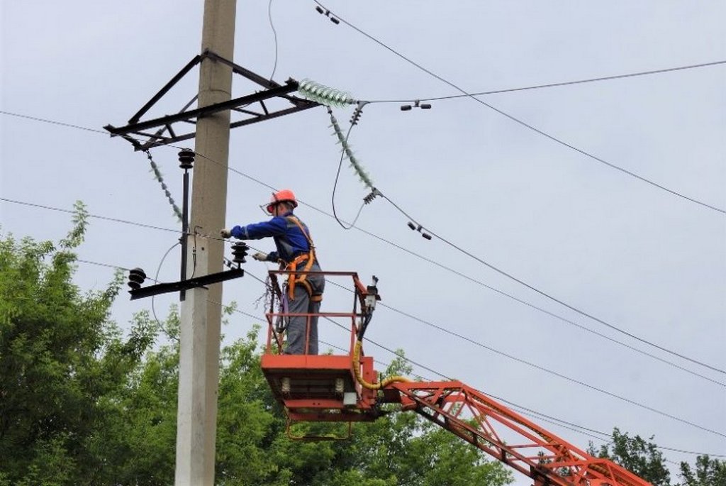
<svg viewBox="0 0 726 486">
<path fill-rule="evenodd" d="M 223 238 L 234 236 L 239 240 L 259 240 L 272 237 L 277 251 L 269 254 L 256 253 L 253 259 L 260 262 L 278 262 L 280 270 L 319 272 L 320 267 L 315 254 L 315 246 L 308 227 L 298 219 L 293 210 L 298 206 L 295 194 L 289 189 L 272 194 L 270 202 L 262 205 L 272 219 L 266 222 L 235 226 L 232 230 L 221 230 Z M 325 289 L 323 275 L 290 273 L 282 295 L 282 309 L 290 314 L 287 323 L 287 355 L 317 355 L 317 321 L 320 301 Z M 308 331 L 309 332 L 306 332 Z M 306 337 L 308 347 L 305 349 Z"/>
</svg>

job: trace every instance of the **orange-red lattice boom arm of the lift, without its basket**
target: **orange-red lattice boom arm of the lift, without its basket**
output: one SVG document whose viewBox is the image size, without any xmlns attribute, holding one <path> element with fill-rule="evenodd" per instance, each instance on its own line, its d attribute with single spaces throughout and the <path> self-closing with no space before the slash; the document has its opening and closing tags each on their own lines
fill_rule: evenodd
<svg viewBox="0 0 726 486">
<path fill-rule="evenodd" d="M 413 410 L 534 479 L 558 486 L 650 486 L 623 467 L 595 458 L 460 381 L 395 382 Z"/>
</svg>

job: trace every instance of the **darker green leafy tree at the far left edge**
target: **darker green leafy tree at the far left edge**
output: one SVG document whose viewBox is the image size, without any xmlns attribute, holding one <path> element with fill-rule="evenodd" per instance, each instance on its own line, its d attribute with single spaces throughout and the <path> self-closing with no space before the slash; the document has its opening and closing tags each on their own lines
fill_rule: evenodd
<svg viewBox="0 0 726 486">
<path fill-rule="evenodd" d="M 87 213 L 56 248 L 12 235 L 0 240 L 0 481 L 65 485 L 89 481 L 107 458 L 96 453 L 109 416 L 104 397 L 151 344 L 148 329 L 128 340 L 109 320 L 120 276 L 83 294 L 71 277 Z"/>
</svg>

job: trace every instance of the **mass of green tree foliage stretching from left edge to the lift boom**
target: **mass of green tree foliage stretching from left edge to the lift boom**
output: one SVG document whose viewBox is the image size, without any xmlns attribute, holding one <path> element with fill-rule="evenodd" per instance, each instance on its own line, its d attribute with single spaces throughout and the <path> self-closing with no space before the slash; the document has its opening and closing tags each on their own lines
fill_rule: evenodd
<svg viewBox="0 0 726 486">
<path fill-rule="evenodd" d="M 171 485 L 179 317 L 141 312 L 123 335 L 104 291 L 73 285 L 86 212 L 57 246 L 0 240 L 0 486 Z M 232 308 L 226 309 L 227 315 Z M 259 328 L 221 349 L 216 483 L 503 486 L 511 473 L 412 413 L 356 424 L 351 440 L 290 440 L 261 373 Z M 395 360 L 388 374 L 409 374 Z M 342 424 L 295 424 L 343 434 Z"/>
</svg>

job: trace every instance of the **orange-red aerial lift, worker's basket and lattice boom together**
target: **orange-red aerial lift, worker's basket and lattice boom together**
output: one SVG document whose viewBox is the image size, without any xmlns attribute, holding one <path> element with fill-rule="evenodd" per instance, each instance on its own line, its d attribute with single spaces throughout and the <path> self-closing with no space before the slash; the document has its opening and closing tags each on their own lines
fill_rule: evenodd
<svg viewBox="0 0 726 486">
<path fill-rule="evenodd" d="M 289 272 L 270 272 L 272 280 Z M 309 272 L 313 273 L 313 272 Z M 315 272 L 353 279 L 352 312 L 321 312 L 319 316 L 351 319 L 351 349 L 348 355 L 282 355 L 282 336 L 274 320 L 285 315 L 274 312 L 274 300 L 267 313 L 269 323 L 262 370 L 275 397 L 285 406 L 288 435 L 291 421 L 370 421 L 379 416 L 378 402 L 400 403 L 444 429 L 470 442 L 513 469 L 534 480 L 534 486 L 648 486 L 607 459 L 595 458 L 555 434 L 537 426 L 492 398 L 460 381 L 394 381 L 376 390 L 364 388 L 353 371 L 353 350 L 362 317 L 367 288 L 354 272 Z M 378 384 L 372 357 L 362 356 L 363 381 Z M 338 381 L 342 380 L 342 381 Z M 336 382 L 338 386 L 336 387 Z M 355 392 L 354 405 L 346 405 L 342 391 Z M 350 430 L 350 429 L 348 429 Z M 314 440 L 331 437 L 307 437 Z"/>
</svg>

